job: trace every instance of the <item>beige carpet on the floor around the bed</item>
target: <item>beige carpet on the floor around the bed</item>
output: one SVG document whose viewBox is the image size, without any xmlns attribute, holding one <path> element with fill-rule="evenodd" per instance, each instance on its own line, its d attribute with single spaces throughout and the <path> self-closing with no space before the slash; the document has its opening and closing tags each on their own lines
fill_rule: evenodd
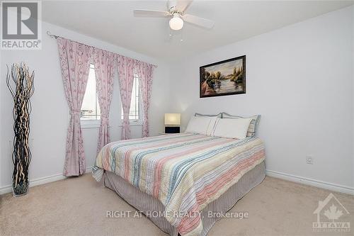
<svg viewBox="0 0 354 236">
<path fill-rule="evenodd" d="M 318 201 L 330 191 L 271 177 L 231 211 L 249 218 L 219 220 L 208 235 L 354 235 L 354 197 L 334 193 L 351 215 L 351 232 L 313 232 Z M 26 196 L 0 196 L 0 235 L 166 235 L 149 219 L 106 218 L 107 210 L 134 210 L 91 175 L 35 186 Z M 339 209 L 338 209 L 339 210 Z M 336 220 L 338 221 L 338 220 Z"/>
</svg>

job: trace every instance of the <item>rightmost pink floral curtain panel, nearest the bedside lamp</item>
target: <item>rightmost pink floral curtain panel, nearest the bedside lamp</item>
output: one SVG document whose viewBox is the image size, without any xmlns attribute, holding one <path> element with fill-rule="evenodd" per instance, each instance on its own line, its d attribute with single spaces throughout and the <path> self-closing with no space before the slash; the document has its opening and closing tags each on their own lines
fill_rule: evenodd
<svg viewBox="0 0 354 236">
<path fill-rule="evenodd" d="M 154 65 L 146 62 L 137 62 L 137 72 L 139 76 L 139 86 L 142 97 L 143 125 L 142 137 L 149 136 L 149 106 L 152 94 L 152 74 Z"/>
</svg>

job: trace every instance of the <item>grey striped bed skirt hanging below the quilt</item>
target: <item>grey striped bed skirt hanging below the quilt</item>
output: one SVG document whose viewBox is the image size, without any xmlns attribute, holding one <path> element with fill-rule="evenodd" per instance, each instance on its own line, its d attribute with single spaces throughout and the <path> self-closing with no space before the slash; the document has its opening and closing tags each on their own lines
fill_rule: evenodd
<svg viewBox="0 0 354 236">
<path fill-rule="evenodd" d="M 220 218 L 217 218 L 217 215 L 222 215 L 212 214 L 215 215 L 215 218 L 207 217 L 210 211 L 213 213 L 226 213 L 246 193 L 258 184 L 261 184 L 264 178 L 265 164 L 264 162 L 261 162 L 261 164 L 258 164 L 256 167 L 244 174 L 244 176 L 242 176 L 236 184 L 219 196 L 219 198 L 209 203 L 201 212 L 203 225 L 201 236 L 207 235 L 207 232 L 209 232 L 212 225 L 214 225 L 217 220 L 220 220 Z M 157 211 L 159 213 L 164 212 L 165 207 L 157 198 L 140 191 L 135 186 L 132 186 L 132 184 L 128 183 L 125 179 L 122 179 L 122 177 L 114 174 L 113 172 L 105 172 L 104 183 L 108 189 L 112 189 L 118 193 L 118 195 L 127 201 L 127 203 L 135 207 L 137 210 L 142 211 L 142 213 L 153 211 Z M 171 236 L 178 235 L 176 227 L 173 227 L 163 215 L 152 217 L 152 214 L 150 214 L 147 215 L 147 217 L 152 220 L 152 222 L 162 231 Z"/>
</svg>

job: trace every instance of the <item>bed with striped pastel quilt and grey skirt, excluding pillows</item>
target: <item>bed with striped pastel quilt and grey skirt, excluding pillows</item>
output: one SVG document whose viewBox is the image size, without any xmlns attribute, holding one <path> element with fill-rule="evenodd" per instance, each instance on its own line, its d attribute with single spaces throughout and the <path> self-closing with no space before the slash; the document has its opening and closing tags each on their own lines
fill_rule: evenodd
<svg viewBox="0 0 354 236">
<path fill-rule="evenodd" d="M 258 137 L 181 133 L 111 142 L 93 176 L 169 235 L 206 235 L 220 219 L 210 212 L 226 213 L 263 181 L 264 159 Z"/>
</svg>

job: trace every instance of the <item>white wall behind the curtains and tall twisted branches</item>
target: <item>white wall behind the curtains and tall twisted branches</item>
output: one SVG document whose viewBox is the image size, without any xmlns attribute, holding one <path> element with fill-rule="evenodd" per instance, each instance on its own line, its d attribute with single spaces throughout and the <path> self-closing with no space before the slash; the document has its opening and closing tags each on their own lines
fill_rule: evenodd
<svg viewBox="0 0 354 236">
<path fill-rule="evenodd" d="M 93 45 L 112 52 L 118 52 L 127 57 L 157 64 L 154 71 L 152 104 L 150 108 L 150 131 L 152 135 L 163 130 L 163 117 L 169 96 L 168 64 L 155 60 L 124 48 L 89 38 L 64 28 L 42 23 L 42 50 L 0 51 L 0 96 L 1 96 L 1 135 L 0 135 L 0 191 L 11 184 L 13 164 L 11 150 L 13 140 L 13 101 L 6 87 L 6 64 L 26 62 L 35 71 L 35 94 L 31 101 L 33 113 L 30 116 L 30 148 L 33 159 L 30 164 L 30 179 L 40 179 L 47 176 L 60 175 L 64 167 L 65 141 L 69 123 L 69 108 L 64 97 L 64 87 L 59 67 L 59 55 L 56 40 L 46 34 L 46 30 L 62 35 L 65 38 Z M 111 140 L 120 139 L 120 94 L 118 78 L 115 74 L 113 101 L 110 106 Z M 132 137 L 141 137 L 142 126 L 132 127 Z M 98 128 L 83 130 L 84 147 L 87 167 L 93 165 L 96 157 Z"/>
</svg>

